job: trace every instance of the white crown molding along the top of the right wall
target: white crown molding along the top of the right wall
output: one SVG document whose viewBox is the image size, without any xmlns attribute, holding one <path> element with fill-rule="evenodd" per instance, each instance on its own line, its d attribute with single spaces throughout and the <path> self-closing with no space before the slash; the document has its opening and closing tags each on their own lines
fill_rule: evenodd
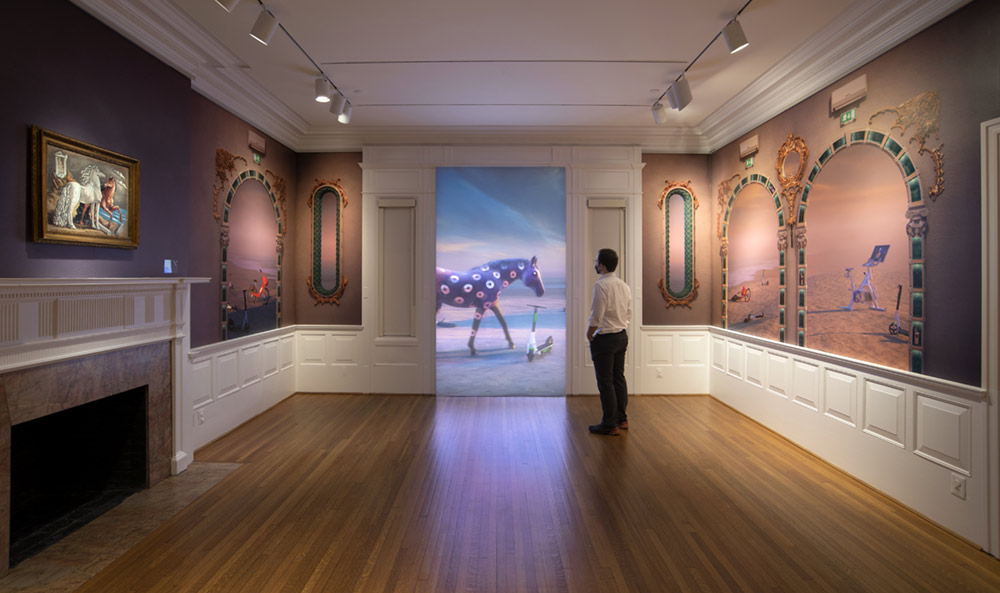
<svg viewBox="0 0 1000 593">
<path fill-rule="evenodd" d="M 971 0 L 879 0 L 847 10 L 701 124 L 714 152 L 871 62 Z M 855 6 L 862 4 L 856 2 Z"/>
</svg>

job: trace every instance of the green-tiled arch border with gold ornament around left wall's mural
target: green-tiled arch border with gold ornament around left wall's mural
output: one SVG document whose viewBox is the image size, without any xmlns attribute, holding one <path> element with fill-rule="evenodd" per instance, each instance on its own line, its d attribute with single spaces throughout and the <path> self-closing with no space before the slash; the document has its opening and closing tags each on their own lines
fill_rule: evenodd
<svg viewBox="0 0 1000 593">
<path fill-rule="evenodd" d="M 242 165 L 238 167 L 237 162 L 241 162 Z M 231 182 L 230 179 L 232 179 Z M 236 289 L 233 285 L 230 270 L 231 254 L 229 253 L 229 247 L 231 231 L 230 212 L 233 206 L 233 199 L 236 197 L 240 186 L 247 181 L 259 182 L 263 186 L 264 191 L 270 198 L 271 206 L 274 209 L 275 222 L 277 225 L 276 232 L 273 237 L 275 254 L 273 278 L 269 278 L 266 272 L 261 271 L 260 283 L 258 284 L 255 279 L 254 283 L 248 289 L 244 290 Z M 229 192 L 222 201 L 222 209 L 220 211 L 219 195 L 227 185 L 229 186 Z M 219 244 L 222 251 L 222 257 L 220 260 L 222 267 L 220 274 L 221 339 L 228 339 L 230 337 L 230 330 L 235 330 L 237 326 L 239 326 L 242 333 L 254 333 L 255 331 L 258 331 L 255 330 L 249 323 L 250 303 L 252 300 L 255 300 L 256 304 L 266 306 L 268 309 L 273 307 L 275 327 L 280 327 L 281 265 L 282 257 L 284 255 L 284 237 L 287 220 L 285 211 L 285 180 L 283 177 L 276 175 L 271 171 L 260 171 L 258 169 L 249 168 L 249 163 L 245 158 L 219 148 L 216 150 L 215 154 L 215 186 L 213 189 L 212 212 L 215 216 L 215 220 L 221 224 L 219 232 Z M 273 289 L 269 286 L 271 282 L 274 283 Z M 240 299 L 237 299 L 236 301 L 230 300 L 235 296 L 232 294 L 232 291 L 234 290 L 244 290 L 244 292 L 249 293 L 249 299 L 242 299 L 242 309 L 240 308 Z"/>
</svg>

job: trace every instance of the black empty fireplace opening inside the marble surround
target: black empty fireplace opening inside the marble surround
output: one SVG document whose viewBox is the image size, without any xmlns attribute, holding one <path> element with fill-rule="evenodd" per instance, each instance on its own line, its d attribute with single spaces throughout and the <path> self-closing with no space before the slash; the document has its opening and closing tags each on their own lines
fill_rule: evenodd
<svg viewBox="0 0 1000 593">
<path fill-rule="evenodd" d="M 139 387 L 11 427 L 10 566 L 149 487 Z"/>
</svg>

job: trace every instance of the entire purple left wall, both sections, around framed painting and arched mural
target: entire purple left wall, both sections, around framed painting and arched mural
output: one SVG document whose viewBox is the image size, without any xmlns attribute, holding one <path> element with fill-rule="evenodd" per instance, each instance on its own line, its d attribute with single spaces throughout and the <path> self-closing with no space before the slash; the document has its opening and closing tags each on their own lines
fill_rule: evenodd
<svg viewBox="0 0 1000 593">
<path fill-rule="evenodd" d="M 252 163 L 246 122 L 191 90 L 190 81 L 65 0 L 17 6 L 0 51 L 0 277 L 149 277 L 163 260 L 177 275 L 209 277 L 192 290 L 191 342 L 219 340 L 219 225 L 212 214 L 215 151 Z M 86 39 L 85 45 L 80 40 Z M 30 50 L 30 51 L 29 51 Z M 29 226 L 29 128 L 37 125 L 139 159 L 139 247 L 34 243 Z M 255 130 L 260 134 L 259 130 Z M 287 182 L 294 233 L 297 155 L 268 138 L 257 168 Z M 292 245 L 286 236 L 286 245 Z M 290 248 L 291 249 L 291 248 Z M 287 257 L 283 324 L 295 323 L 296 262 Z"/>
</svg>

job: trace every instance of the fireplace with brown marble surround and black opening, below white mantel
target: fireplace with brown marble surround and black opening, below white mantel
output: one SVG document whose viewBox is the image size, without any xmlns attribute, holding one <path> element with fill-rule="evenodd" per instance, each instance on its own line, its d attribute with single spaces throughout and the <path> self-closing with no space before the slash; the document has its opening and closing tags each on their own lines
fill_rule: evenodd
<svg viewBox="0 0 1000 593">
<path fill-rule="evenodd" d="M 54 543 L 72 503 L 82 526 L 166 478 L 171 427 L 167 342 L 0 375 L 0 574 Z"/>
</svg>

